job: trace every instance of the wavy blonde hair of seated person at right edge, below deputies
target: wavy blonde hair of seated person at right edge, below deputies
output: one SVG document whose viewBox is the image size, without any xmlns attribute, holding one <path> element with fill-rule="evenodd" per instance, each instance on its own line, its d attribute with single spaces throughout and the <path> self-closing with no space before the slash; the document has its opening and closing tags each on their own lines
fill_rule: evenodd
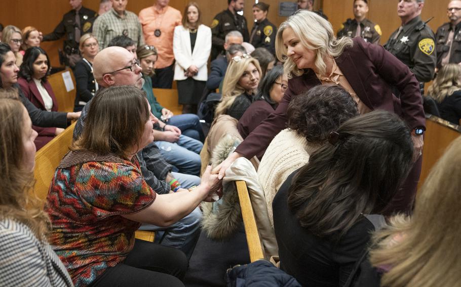
<svg viewBox="0 0 461 287">
<path fill-rule="evenodd" d="M 428 89 L 430 97 L 441 103 L 454 91 L 461 89 L 461 67 L 458 64 L 447 64 L 437 74 L 434 82 Z"/>
</svg>

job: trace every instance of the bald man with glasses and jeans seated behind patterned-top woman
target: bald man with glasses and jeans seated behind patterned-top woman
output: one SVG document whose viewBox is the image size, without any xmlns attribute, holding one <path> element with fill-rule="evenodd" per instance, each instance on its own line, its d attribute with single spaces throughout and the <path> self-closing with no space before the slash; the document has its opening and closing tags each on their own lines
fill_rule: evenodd
<svg viewBox="0 0 461 287">
<path fill-rule="evenodd" d="M 142 78 L 141 68 L 139 66 L 131 66 L 115 74 L 110 73 L 111 71 L 119 70 L 120 67 L 126 67 L 126 65 L 130 63 L 132 65 L 136 64 L 135 61 L 134 55 L 123 47 L 108 47 L 98 53 L 94 59 L 93 65 L 95 79 L 101 87 L 98 92 L 110 86 L 120 85 L 131 85 L 141 89 Z M 91 101 L 92 100 L 83 108 L 82 117 L 75 125 L 73 133 L 74 140 L 77 139 L 85 129 L 85 120 L 88 115 Z M 166 126 L 165 130 L 169 129 L 170 126 Z M 165 161 L 165 158 L 162 156 L 160 149 L 155 143 L 150 143 L 139 151 L 138 157 L 143 178 L 157 194 L 168 194 L 170 190 L 177 188 L 178 184 L 179 187 L 184 188 L 200 184 L 200 177 L 198 176 L 172 172 L 172 166 Z M 170 226 L 160 227 L 149 224 L 148 226 L 141 226 L 141 228 L 144 230 L 156 231 L 156 242 L 161 242 L 162 245 L 180 249 L 190 258 L 200 235 L 201 215 L 200 209 L 196 208 L 193 212 Z"/>
</svg>

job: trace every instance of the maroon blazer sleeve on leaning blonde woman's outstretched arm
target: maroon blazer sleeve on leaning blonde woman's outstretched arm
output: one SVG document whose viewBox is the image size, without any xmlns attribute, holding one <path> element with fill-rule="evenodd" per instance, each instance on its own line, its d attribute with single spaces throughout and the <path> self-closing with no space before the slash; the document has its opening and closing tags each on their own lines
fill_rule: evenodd
<svg viewBox="0 0 461 287">
<path fill-rule="evenodd" d="M 290 88 L 290 81 L 288 81 L 288 90 L 285 92 L 277 109 L 240 143 L 236 152 L 247 159 L 251 159 L 269 146 L 272 139 L 286 127 L 286 114 L 292 95 L 293 91 Z"/>
</svg>

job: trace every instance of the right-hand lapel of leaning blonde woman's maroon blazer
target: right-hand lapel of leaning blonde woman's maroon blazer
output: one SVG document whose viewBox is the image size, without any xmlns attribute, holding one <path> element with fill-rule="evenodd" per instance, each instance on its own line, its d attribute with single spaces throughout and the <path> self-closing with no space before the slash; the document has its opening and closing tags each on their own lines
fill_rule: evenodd
<svg viewBox="0 0 461 287">
<path fill-rule="evenodd" d="M 363 86 L 363 81 L 360 78 L 360 74 L 357 71 L 357 67 L 354 64 L 354 61 L 349 55 L 348 51 L 345 50 L 341 56 L 336 60 L 336 65 L 338 65 L 341 72 L 344 74 L 344 77 L 348 80 L 349 84 L 352 86 L 354 91 L 357 93 L 357 97 L 370 109 L 374 110 L 373 104 L 368 98 L 367 91 Z"/>
</svg>

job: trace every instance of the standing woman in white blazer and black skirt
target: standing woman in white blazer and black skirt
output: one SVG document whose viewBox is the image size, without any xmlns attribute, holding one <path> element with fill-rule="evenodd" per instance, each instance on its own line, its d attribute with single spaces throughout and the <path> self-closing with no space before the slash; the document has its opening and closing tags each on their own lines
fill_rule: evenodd
<svg viewBox="0 0 461 287">
<path fill-rule="evenodd" d="M 211 52 L 211 29 L 202 24 L 195 2 L 184 9 L 182 25 L 174 28 L 174 80 L 178 85 L 179 104 L 183 114 L 196 114 L 208 78 L 208 57 Z"/>
</svg>

